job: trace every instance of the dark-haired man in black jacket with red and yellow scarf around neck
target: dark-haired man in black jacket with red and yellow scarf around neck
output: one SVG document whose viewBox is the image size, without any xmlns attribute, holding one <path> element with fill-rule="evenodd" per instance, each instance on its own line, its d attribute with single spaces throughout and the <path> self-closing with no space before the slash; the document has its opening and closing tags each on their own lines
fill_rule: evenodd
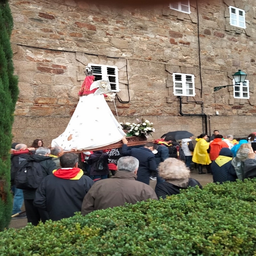
<svg viewBox="0 0 256 256">
<path fill-rule="evenodd" d="M 34 200 L 34 205 L 47 211 L 52 221 L 80 212 L 84 196 L 94 183 L 78 168 L 77 154 L 64 154 L 60 157 L 60 164 L 61 169 L 42 180 Z"/>
</svg>

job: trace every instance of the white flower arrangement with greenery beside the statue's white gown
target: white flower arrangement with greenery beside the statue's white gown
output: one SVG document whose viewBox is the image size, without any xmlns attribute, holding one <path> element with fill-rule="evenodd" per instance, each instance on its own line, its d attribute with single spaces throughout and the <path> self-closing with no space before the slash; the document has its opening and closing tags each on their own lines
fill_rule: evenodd
<svg viewBox="0 0 256 256">
<path fill-rule="evenodd" d="M 126 136 L 145 136 L 149 137 L 149 135 L 152 135 L 151 133 L 155 131 L 153 128 L 153 123 L 149 122 L 146 119 L 136 119 L 137 123 L 129 123 L 129 122 L 120 122 L 120 125 L 122 126 L 123 130 L 126 130 Z"/>
</svg>

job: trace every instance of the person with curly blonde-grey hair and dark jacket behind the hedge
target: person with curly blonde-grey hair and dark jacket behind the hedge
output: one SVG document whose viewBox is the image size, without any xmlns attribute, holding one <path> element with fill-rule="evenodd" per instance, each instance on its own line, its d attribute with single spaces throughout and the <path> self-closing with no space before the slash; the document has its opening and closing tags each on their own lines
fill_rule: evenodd
<svg viewBox="0 0 256 256">
<path fill-rule="evenodd" d="M 189 168 L 185 163 L 176 158 L 167 158 L 160 163 L 158 167 L 159 176 L 165 179 L 165 182 L 157 183 L 155 192 L 157 197 L 166 198 L 167 195 L 176 195 L 180 193 L 180 189 L 187 189 L 189 186 L 198 185 L 202 188 L 201 184 L 192 178 L 189 178 Z"/>
</svg>

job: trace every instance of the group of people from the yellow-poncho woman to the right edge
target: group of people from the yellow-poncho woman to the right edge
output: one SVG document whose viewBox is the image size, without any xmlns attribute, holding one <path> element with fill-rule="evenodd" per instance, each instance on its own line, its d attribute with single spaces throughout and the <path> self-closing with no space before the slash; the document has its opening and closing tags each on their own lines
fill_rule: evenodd
<svg viewBox="0 0 256 256">
<path fill-rule="evenodd" d="M 205 174 L 205 166 L 215 183 L 254 177 L 256 133 L 234 140 L 233 135 L 224 138 L 215 130 L 209 141 L 207 134 L 201 134 L 195 140 L 192 161 L 198 165 L 199 174 Z"/>
</svg>

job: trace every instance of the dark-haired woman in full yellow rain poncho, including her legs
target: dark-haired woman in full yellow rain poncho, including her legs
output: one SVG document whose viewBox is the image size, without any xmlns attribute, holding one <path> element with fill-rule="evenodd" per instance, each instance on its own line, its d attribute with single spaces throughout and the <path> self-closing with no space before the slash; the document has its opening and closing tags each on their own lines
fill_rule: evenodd
<svg viewBox="0 0 256 256">
<path fill-rule="evenodd" d="M 197 143 L 195 145 L 192 161 L 198 164 L 199 174 L 205 174 L 205 172 L 203 172 L 203 165 L 206 165 L 208 171 L 209 164 L 212 163 L 207 152 L 207 149 L 209 149 L 209 142 L 206 141 L 207 138 L 207 134 L 200 134 L 199 138 L 195 139 Z"/>
</svg>

